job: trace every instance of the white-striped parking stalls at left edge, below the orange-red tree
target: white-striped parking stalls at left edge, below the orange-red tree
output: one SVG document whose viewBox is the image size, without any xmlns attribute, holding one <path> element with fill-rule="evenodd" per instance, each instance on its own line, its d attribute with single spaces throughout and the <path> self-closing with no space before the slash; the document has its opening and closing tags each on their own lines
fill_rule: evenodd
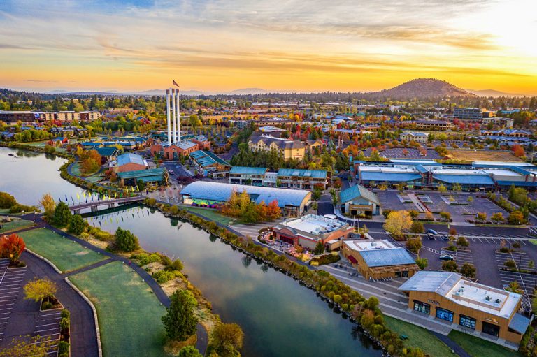
<svg viewBox="0 0 537 357">
<path fill-rule="evenodd" d="M 6 333 L 6 326 L 26 274 L 26 268 L 8 269 L 8 265 L 9 259 L 0 260 L 0 341 Z"/>
</svg>

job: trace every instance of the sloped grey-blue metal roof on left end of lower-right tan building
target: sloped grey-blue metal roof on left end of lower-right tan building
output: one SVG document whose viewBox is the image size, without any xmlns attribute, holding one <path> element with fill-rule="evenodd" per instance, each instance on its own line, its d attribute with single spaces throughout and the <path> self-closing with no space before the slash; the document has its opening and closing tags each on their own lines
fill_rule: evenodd
<svg viewBox="0 0 537 357">
<path fill-rule="evenodd" d="M 461 275 L 456 272 L 426 272 L 422 270 L 416 272 L 397 290 L 430 291 L 445 296 L 461 278 Z"/>
</svg>

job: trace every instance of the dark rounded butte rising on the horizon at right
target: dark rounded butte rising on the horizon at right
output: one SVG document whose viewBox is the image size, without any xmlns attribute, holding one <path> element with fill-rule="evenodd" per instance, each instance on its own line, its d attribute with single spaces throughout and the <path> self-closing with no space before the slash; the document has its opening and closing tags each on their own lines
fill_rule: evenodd
<svg viewBox="0 0 537 357">
<path fill-rule="evenodd" d="M 392 89 L 384 89 L 380 92 L 370 94 L 373 96 L 387 96 L 394 99 L 475 96 L 475 94 L 456 87 L 449 82 L 434 78 L 418 78 L 393 87 Z"/>
</svg>

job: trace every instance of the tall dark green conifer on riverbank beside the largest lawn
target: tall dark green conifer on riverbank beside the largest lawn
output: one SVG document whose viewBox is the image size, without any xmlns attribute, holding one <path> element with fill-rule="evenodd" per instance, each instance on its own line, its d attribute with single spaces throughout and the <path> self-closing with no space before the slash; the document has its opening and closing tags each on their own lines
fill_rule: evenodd
<svg viewBox="0 0 537 357">
<path fill-rule="evenodd" d="M 161 319 L 166 335 L 171 340 L 185 341 L 196 333 L 198 318 L 194 315 L 194 308 L 197 305 L 189 290 L 176 290 L 170 296 L 170 307 L 166 309 L 166 315 Z"/>
</svg>

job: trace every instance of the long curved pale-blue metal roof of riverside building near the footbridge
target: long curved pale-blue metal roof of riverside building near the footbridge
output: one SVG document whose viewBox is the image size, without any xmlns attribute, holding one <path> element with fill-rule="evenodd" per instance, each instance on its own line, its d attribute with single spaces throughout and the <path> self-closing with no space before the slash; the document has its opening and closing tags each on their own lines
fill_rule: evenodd
<svg viewBox="0 0 537 357">
<path fill-rule="evenodd" d="M 181 194 L 208 201 L 225 202 L 229 199 L 234 190 L 238 193 L 241 193 L 242 191 L 248 192 L 252 200 L 256 203 L 264 201 L 268 204 L 277 200 L 278 206 L 280 207 L 285 207 L 286 205 L 299 207 L 306 198 L 311 196 L 311 192 L 306 190 L 279 189 L 209 181 L 196 181 L 187 184 L 187 186 L 181 190 Z"/>
</svg>

